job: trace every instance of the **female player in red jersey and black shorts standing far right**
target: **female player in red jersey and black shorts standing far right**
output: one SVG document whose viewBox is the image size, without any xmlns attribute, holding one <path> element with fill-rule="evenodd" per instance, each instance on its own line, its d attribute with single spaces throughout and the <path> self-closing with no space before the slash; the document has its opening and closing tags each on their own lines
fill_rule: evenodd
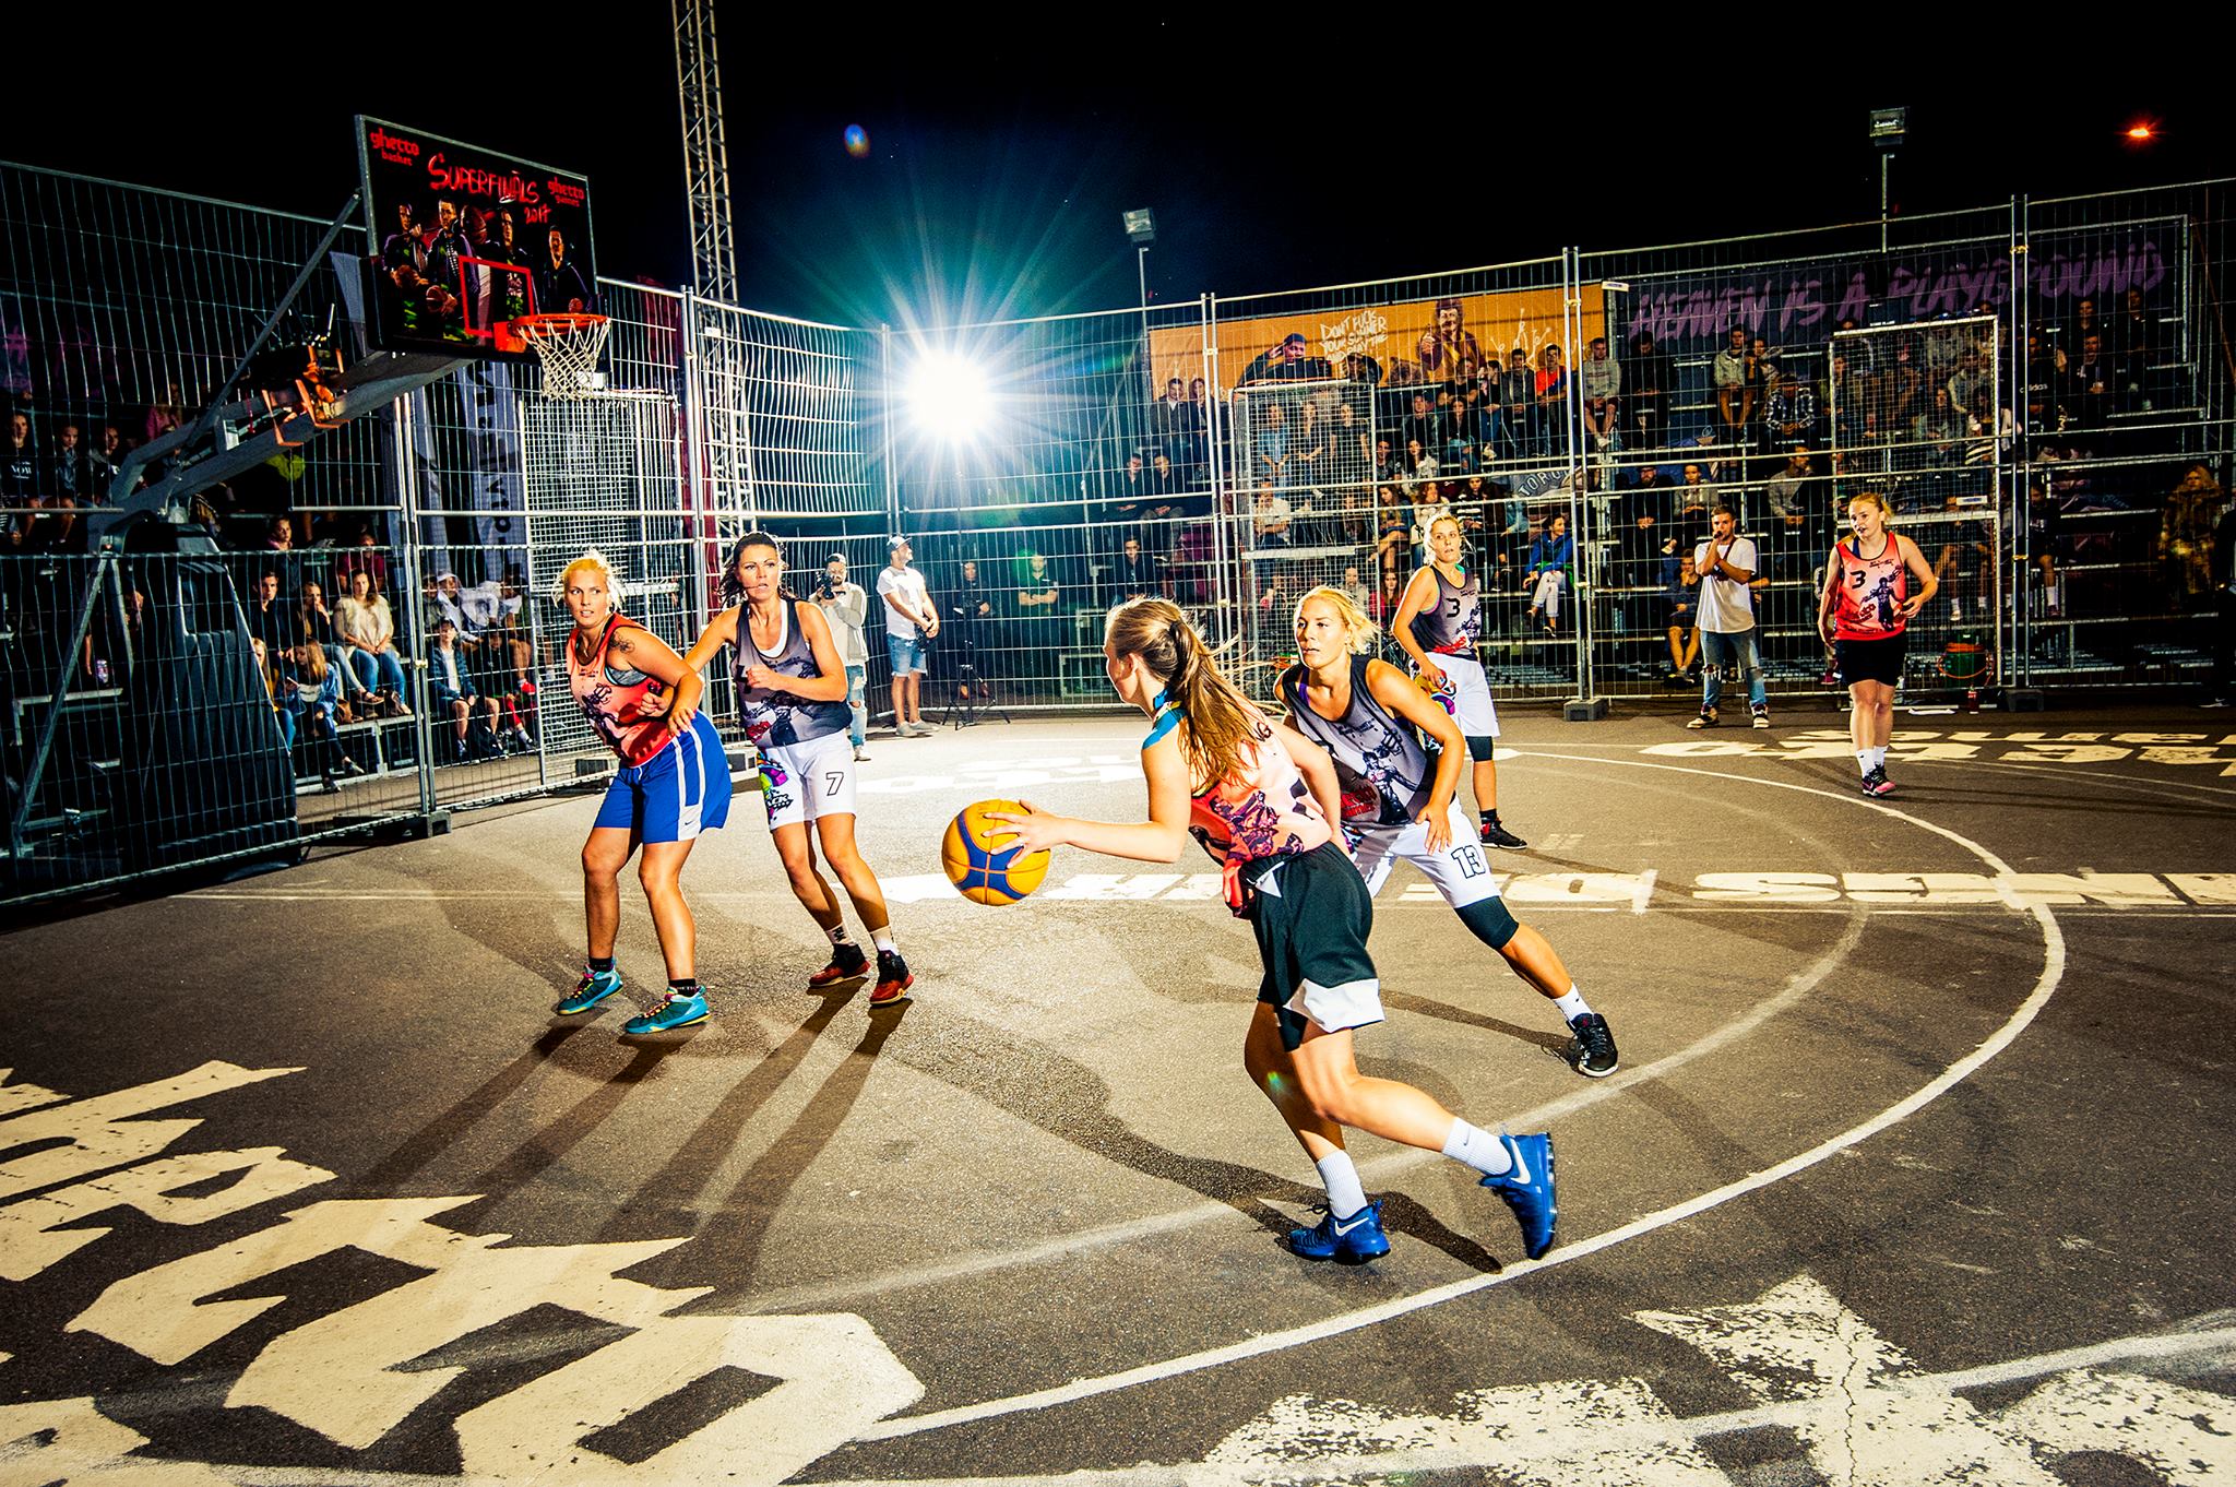
<svg viewBox="0 0 2236 1487">
<path fill-rule="evenodd" d="M 1892 796 L 1887 780 L 1887 736 L 1894 731 L 1894 684 L 1903 680 L 1905 631 L 1925 608 L 1941 579 L 1918 552 L 1918 543 L 1894 532 L 1887 499 L 1865 490 L 1847 503 L 1854 532 L 1834 543 L 1818 599 L 1818 633 L 1834 648 L 1840 680 L 1854 702 L 1847 736 L 1856 742 L 1863 794 Z M 1910 579 L 1918 581 L 1916 593 Z"/>
</svg>

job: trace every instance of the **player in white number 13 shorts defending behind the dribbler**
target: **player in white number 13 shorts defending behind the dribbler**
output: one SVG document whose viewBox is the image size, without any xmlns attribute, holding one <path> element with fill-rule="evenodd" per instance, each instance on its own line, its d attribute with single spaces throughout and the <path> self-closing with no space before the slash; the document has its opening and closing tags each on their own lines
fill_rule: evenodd
<svg viewBox="0 0 2236 1487">
<path fill-rule="evenodd" d="M 1277 682 L 1290 727 L 1328 751 L 1342 785 L 1342 825 L 1366 897 L 1382 892 L 1391 863 L 1420 868 L 1460 924 L 1498 950 L 1514 975 L 1538 988 L 1567 1022 L 1576 1073 L 1614 1073 L 1614 1033 L 1590 1008 L 1567 966 L 1536 930 L 1516 924 L 1498 897 L 1482 847 L 1460 814 L 1460 724 L 1402 671 L 1371 660 L 1375 626 L 1337 588 L 1297 602 L 1297 664 Z M 1436 740 L 1431 760 L 1420 738 Z"/>
</svg>

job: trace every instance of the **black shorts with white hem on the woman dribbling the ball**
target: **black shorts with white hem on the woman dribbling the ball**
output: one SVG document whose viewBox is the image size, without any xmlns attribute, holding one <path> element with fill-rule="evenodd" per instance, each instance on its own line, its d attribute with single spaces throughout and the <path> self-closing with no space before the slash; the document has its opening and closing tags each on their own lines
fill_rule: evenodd
<svg viewBox="0 0 2236 1487">
<path fill-rule="evenodd" d="M 1248 874 L 1250 928 L 1266 977 L 1259 1002 L 1281 1017 L 1281 1046 L 1295 1053 L 1306 1024 L 1326 1033 L 1382 1022 L 1382 979 L 1366 955 L 1375 903 L 1359 870 L 1333 841 L 1277 856 Z"/>
</svg>

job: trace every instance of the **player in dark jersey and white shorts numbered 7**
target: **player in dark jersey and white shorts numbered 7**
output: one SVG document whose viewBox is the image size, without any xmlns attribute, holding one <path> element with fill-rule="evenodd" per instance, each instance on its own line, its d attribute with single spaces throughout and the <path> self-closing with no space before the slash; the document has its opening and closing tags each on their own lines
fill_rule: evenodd
<svg viewBox="0 0 2236 1487">
<path fill-rule="evenodd" d="M 830 935 L 832 962 L 807 977 L 821 991 L 859 977 L 868 957 L 845 932 L 839 897 L 816 872 L 807 823 L 816 823 L 823 859 L 854 901 L 854 912 L 877 948 L 877 988 L 870 1006 L 892 1006 L 917 977 L 892 939 L 885 890 L 854 845 L 854 745 L 847 738 L 845 662 L 830 622 L 814 604 L 785 588 L 785 555 L 767 532 L 747 532 L 729 550 L 722 599 L 729 604 L 691 646 L 684 666 L 700 671 L 722 646 L 736 651 L 738 720 L 760 749 L 767 778 L 769 836 L 792 877 L 792 892 Z"/>
</svg>

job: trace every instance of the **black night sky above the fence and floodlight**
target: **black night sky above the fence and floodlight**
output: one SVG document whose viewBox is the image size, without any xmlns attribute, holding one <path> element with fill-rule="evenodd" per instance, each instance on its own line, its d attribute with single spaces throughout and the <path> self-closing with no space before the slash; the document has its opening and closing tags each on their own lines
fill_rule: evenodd
<svg viewBox="0 0 2236 1487">
<path fill-rule="evenodd" d="M 1203 34 L 1120 11 L 1091 56 L 1076 13 L 1055 36 L 986 18 L 872 27 L 832 7 L 827 29 L 778 38 L 756 9 L 722 11 L 742 300 L 850 324 L 1134 304 L 1129 206 L 1158 215 L 1154 300 L 1874 217 L 1865 114 L 1885 103 L 1910 107 L 1894 163 L 1910 212 L 2236 165 L 2236 114 L 2209 89 L 2071 56 L 1854 85 L 1872 69 L 1829 54 L 1755 72 L 1702 47 L 1594 72 L 1588 58 L 1614 45 L 1547 42 L 1514 63 L 1529 49 L 1507 29 L 1469 58 L 1449 29 L 1346 40 L 1254 18 Z M 152 101 L 114 105 L 130 69 L 92 67 L 98 36 L 18 27 L 16 78 L 31 87 L 0 98 L 0 159 L 324 217 L 356 188 L 364 112 L 588 172 L 599 273 L 691 277 L 664 4 L 610 11 L 642 27 L 537 29 L 595 63 L 601 80 L 575 103 L 476 63 L 474 27 L 434 25 L 400 65 L 373 60 L 396 49 L 362 25 L 306 31 L 304 13 L 255 27 L 304 38 L 293 60 L 266 42 L 244 54 L 241 31 L 230 47 L 139 31 L 163 58 L 145 72 Z M 2162 139 L 2129 145 L 2135 119 Z M 850 123 L 870 134 L 865 159 L 843 148 Z"/>
</svg>

